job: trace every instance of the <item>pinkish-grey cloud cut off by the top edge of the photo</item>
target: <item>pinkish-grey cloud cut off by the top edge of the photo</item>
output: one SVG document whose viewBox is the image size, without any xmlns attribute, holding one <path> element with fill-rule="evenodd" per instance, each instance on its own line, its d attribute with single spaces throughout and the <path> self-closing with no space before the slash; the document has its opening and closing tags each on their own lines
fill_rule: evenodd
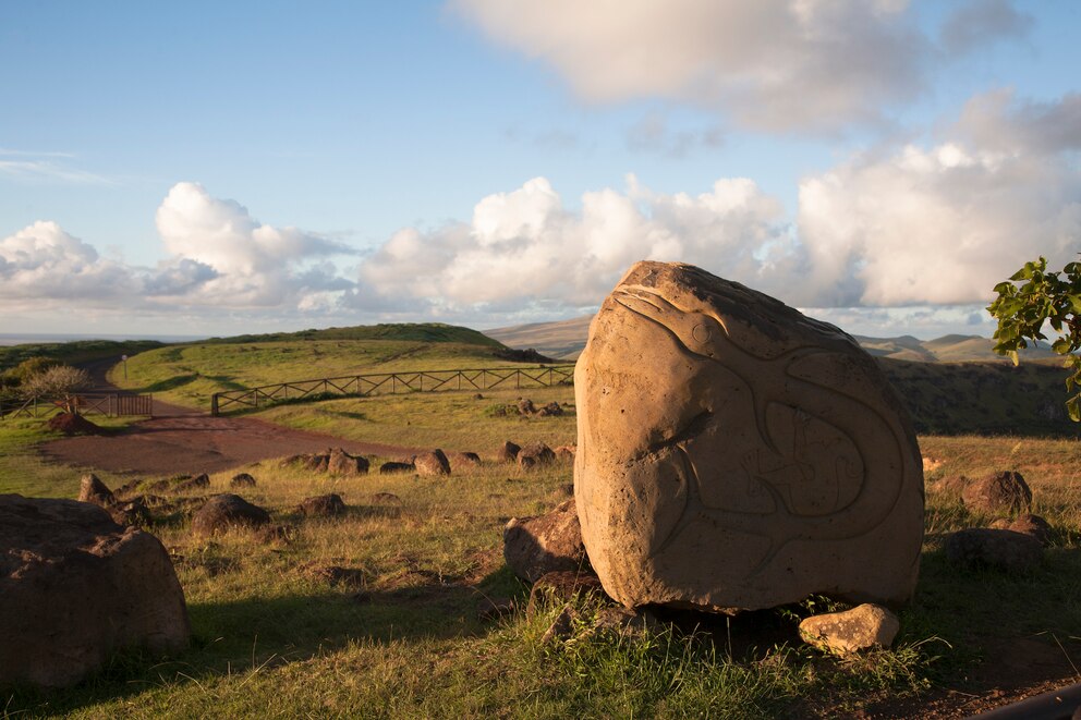
<svg viewBox="0 0 1081 720">
<path fill-rule="evenodd" d="M 453 0 L 592 101 L 673 98 L 749 126 L 831 130 L 924 87 L 934 44 L 906 0 Z"/>
</svg>

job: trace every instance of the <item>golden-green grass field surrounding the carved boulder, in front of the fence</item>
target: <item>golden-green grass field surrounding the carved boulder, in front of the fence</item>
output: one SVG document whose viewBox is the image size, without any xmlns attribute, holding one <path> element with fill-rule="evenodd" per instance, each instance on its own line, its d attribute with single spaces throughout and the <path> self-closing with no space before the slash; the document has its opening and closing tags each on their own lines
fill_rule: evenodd
<svg viewBox="0 0 1081 720">
<path fill-rule="evenodd" d="M 345 399 L 265 415 L 343 437 L 411 438 L 411 444 L 482 454 L 503 439 L 573 441 L 572 413 L 500 415 L 498 407 L 518 394 Z M 568 388 L 521 394 L 571 404 Z M 42 437 L 31 423 L 0 426 L 0 491 L 74 496 L 78 471 L 34 455 Z M 503 565 L 501 532 L 509 517 L 564 499 L 569 464 L 524 474 L 488 463 L 439 480 L 329 479 L 265 461 L 212 476 L 210 491 L 226 490 L 233 472 L 250 472 L 258 486 L 243 495 L 293 528 L 287 539 L 244 532 L 195 539 L 184 518 L 150 528 L 172 553 L 187 597 L 190 650 L 163 660 L 119 657 L 80 687 L 16 690 L 0 697 L 0 707 L 19 717 L 88 718 L 836 717 L 919 701 L 936 688 L 976 693 L 982 673 L 1010 643 L 1081 662 L 1081 446 L 1010 437 L 921 442 L 942 461 L 932 480 L 1021 471 L 1036 511 L 1054 527 L 1054 546 L 1033 575 L 958 571 L 943 557 L 943 534 L 992 518 L 931 495 L 920 586 L 889 650 L 842 661 L 802 645 L 799 618 L 834 606 L 822 598 L 731 621 L 672 614 L 672 624 L 637 639 L 579 635 L 543 646 L 560 608 L 526 615 L 529 588 Z M 295 513 L 303 497 L 329 491 L 343 495 L 348 516 L 306 521 Z M 377 503 L 377 492 L 393 493 L 401 504 Z M 519 610 L 482 621 L 476 608 L 485 597 L 513 598 Z M 584 618 L 596 610 L 579 607 Z"/>
</svg>

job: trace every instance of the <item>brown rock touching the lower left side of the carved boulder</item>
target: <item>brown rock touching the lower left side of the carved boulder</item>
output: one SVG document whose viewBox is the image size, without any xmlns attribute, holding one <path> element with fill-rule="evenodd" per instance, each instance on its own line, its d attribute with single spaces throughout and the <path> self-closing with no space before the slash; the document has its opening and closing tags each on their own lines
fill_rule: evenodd
<svg viewBox="0 0 1081 720">
<path fill-rule="evenodd" d="M 530 583 L 546 573 L 588 568 L 574 500 L 546 515 L 511 517 L 503 528 L 503 558 L 515 575 Z"/>
</svg>

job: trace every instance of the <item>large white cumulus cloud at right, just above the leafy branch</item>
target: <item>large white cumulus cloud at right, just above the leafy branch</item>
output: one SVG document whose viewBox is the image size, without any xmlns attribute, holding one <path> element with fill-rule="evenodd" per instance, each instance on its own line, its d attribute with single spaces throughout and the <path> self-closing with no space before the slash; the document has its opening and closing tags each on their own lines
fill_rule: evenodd
<svg viewBox="0 0 1081 720">
<path fill-rule="evenodd" d="M 806 178 L 799 235 L 826 304 L 979 303 L 1036 255 L 1073 259 L 1081 171 L 1064 150 L 1078 147 L 1077 107 L 977 97 L 950 139 Z"/>
</svg>

